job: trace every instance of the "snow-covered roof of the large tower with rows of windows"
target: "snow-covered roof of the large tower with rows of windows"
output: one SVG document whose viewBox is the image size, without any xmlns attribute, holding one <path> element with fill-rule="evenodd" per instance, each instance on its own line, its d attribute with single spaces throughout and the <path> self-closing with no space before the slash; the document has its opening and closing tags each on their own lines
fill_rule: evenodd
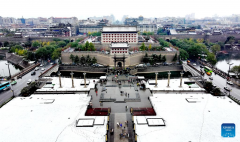
<svg viewBox="0 0 240 142">
<path fill-rule="evenodd" d="M 137 32 L 137 27 L 103 27 L 103 32 Z"/>
</svg>

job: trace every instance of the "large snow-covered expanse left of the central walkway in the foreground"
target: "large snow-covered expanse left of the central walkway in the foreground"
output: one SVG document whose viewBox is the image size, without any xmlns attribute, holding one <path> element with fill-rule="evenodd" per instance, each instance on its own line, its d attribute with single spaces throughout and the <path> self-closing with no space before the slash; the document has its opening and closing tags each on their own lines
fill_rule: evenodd
<svg viewBox="0 0 240 142">
<path fill-rule="evenodd" d="M 0 109 L 0 141 L 103 142 L 107 116 L 84 116 L 89 101 L 87 94 L 14 98 Z M 84 119 L 94 119 L 93 127 L 76 127 Z"/>
</svg>

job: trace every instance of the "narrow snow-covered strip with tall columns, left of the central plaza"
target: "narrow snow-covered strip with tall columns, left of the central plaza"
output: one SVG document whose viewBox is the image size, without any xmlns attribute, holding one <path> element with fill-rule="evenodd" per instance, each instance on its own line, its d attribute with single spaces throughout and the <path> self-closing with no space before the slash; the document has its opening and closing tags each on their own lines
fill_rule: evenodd
<svg viewBox="0 0 240 142">
<path fill-rule="evenodd" d="M 74 88 L 72 88 L 72 79 L 61 77 L 62 88 L 60 88 L 59 77 L 45 77 L 45 78 L 52 79 L 52 84 L 54 84 L 52 85 L 53 88 L 49 87 L 50 86 L 49 84 L 46 84 L 37 91 L 89 91 L 91 88 L 94 88 L 95 83 L 99 81 L 99 79 L 86 79 L 86 88 L 84 88 L 84 79 L 73 78 Z"/>
</svg>

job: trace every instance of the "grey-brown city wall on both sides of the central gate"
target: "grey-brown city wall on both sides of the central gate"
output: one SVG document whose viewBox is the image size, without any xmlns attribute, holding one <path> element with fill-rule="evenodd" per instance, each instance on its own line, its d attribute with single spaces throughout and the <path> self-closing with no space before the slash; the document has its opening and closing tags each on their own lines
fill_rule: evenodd
<svg viewBox="0 0 240 142">
<path fill-rule="evenodd" d="M 126 55 L 126 60 L 125 60 L 125 66 L 134 66 L 142 62 L 143 57 L 145 54 L 148 54 L 148 56 L 151 56 L 152 54 L 156 55 L 162 55 L 166 56 L 166 62 L 171 63 L 175 54 L 177 53 L 179 55 L 179 52 L 177 51 L 145 51 L 141 53 L 135 53 L 132 55 Z M 82 52 L 62 52 L 61 59 L 63 64 L 71 64 L 72 60 L 70 59 L 70 55 L 78 56 L 79 58 L 84 56 L 86 57 L 89 55 L 91 58 L 95 57 L 97 59 L 97 62 L 103 65 L 109 65 L 109 66 L 114 66 L 114 59 L 113 56 L 107 55 L 101 52 L 97 51 L 82 51 Z"/>
</svg>

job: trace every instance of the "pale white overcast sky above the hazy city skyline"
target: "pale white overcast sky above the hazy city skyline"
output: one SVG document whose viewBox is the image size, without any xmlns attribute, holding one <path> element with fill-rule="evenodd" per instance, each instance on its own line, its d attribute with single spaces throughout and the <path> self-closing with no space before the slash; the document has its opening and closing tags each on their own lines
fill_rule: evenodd
<svg viewBox="0 0 240 142">
<path fill-rule="evenodd" d="M 240 0 L 0 0 L 2 17 L 77 17 L 79 19 L 113 14 L 129 17 L 196 18 L 240 14 Z"/>
</svg>

